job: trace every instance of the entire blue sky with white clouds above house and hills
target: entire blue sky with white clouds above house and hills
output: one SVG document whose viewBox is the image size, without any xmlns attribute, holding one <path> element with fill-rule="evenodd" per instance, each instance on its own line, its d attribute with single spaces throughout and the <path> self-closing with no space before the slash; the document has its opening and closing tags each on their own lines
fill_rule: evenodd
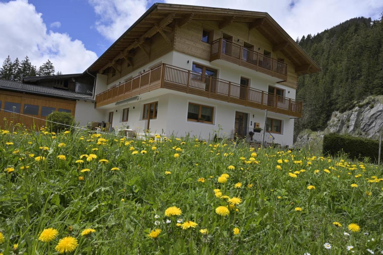
<svg viewBox="0 0 383 255">
<path fill-rule="evenodd" d="M 160 2 L 160 1 L 156 1 Z M 268 12 L 290 36 L 316 34 L 350 18 L 377 19 L 382 0 L 162 0 Z M 28 55 L 39 67 L 85 71 L 153 0 L 0 0 L 0 61 Z"/>
</svg>

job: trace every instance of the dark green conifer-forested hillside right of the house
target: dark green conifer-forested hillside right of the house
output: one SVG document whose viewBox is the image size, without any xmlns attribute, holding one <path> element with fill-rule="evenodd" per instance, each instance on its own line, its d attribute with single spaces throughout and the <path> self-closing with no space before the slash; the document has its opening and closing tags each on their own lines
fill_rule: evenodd
<svg viewBox="0 0 383 255">
<path fill-rule="evenodd" d="M 304 102 L 304 128 L 320 130 L 333 111 L 353 108 L 369 95 L 383 94 L 383 22 L 353 18 L 297 43 L 322 68 L 298 79 L 297 99 Z"/>
</svg>

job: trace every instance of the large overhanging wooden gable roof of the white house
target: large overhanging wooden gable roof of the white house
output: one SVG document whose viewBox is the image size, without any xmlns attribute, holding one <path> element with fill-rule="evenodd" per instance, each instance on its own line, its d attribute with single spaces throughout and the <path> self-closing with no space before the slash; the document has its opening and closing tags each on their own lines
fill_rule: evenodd
<svg viewBox="0 0 383 255">
<path fill-rule="evenodd" d="M 146 38 L 169 30 L 175 20 L 178 25 L 190 20 L 218 21 L 220 28 L 231 23 L 247 23 L 256 28 L 295 65 L 298 74 L 319 72 L 321 68 L 266 12 L 224 8 L 155 3 L 120 38 L 113 43 L 87 70 L 100 72 L 113 66 L 118 59 L 128 59 L 129 52 L 144 43 Z"/>
</svg>

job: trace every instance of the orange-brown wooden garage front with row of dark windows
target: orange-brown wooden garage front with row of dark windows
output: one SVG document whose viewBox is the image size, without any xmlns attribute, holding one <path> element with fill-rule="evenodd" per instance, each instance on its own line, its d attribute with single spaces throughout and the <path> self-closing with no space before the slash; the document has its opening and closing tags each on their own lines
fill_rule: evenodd
<svg viewBox="0 0 383 255">
<path fill-rule="evenodd" d="M 23 116 L 0 110 L 2 128 L 4 128 L 3 118 L 7 118 L 8 124 L 10 121 L 14 121 L 14 123 L 21 123 L 27 128 L 31 128 L 46 126 L 46 122 L 40 119 L 46 119 L 46 116 L 52 111 L 66 111 L 74 116 L 76 101 L 0 91 L 0 106 L 1 109 L 9 111 L 13 111 L 13 107 L 15 107 L 16 113 L 28 115 Z"/>
</svg>

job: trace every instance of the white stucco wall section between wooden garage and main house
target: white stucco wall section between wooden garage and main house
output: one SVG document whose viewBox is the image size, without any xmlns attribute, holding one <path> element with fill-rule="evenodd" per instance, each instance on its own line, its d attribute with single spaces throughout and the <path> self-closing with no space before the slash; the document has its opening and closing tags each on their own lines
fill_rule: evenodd
<svg viewBox="0 0 383 255">
<path fill-rule="evenodd" d="M 104 120 L 105 110 L 95 109 L 95 103 L 92 101 L 76 101 L 74 118 L 80 126 L 87 126 L 89 122 Z"/>
</svg>

